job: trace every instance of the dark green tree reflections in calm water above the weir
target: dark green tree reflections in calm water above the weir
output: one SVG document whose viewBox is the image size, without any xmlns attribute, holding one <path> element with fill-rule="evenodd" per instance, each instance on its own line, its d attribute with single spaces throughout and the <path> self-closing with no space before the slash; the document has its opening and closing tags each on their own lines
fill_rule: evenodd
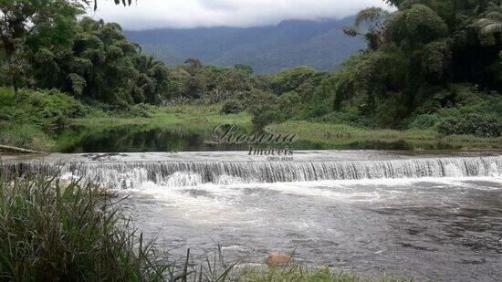
<svg viewBox="0 0 502 282">
<path fill-rule="evenodd" d="M 141 152 L 141 151 L 247 151 L 247 144 L 208 144 L 214 126 L 208 124 L 182 125 L 120 125 L 74 127 L 58 132 L 58 151 L 62 152 Z M 239 127 L 252 134 L 252 127 Z M 327 142 L 298 140 L 292 144 L 253 144 L 255 148 L 272 147 L 293 150 L 413 150 L 406 141 L 337 141 Z M 438 143 L 420 144 L 421 149 L 452 150 L 450 145 Z"/>
</svg>

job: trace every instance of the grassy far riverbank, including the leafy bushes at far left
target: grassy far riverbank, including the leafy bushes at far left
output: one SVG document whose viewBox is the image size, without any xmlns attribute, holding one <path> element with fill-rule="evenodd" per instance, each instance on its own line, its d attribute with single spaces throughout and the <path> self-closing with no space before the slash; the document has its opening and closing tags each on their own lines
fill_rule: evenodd
<svg viewBox="0 0 502 282">
<path fill-rule="evenodd" d="M 252 131 L 246 112 L 223 114 L 222 105 L 131 106 L 120 111 L 99 110 L 58 91 L 0 88 L 0 144 L 38 151 L 62 151 L 83 138 L 110 129 L 141 126 L 142 131 L 162 129 L 207 136 L 217 124 L 236 124 Z M 78 126 L 79 134 L 59 128 Z M 347 124 L 288 120 L 266 127 L 275 134 L 297 134 L 295 149 L 381 150 L 489 150 L 502 149 L 502 138 L 473 135 L 441 135 L 432 130 L 394 131 Z M 71 136 L 70 136 L 71 135 Z M 183 134 L 182 134 L 183 135 Z"/>
</svg>

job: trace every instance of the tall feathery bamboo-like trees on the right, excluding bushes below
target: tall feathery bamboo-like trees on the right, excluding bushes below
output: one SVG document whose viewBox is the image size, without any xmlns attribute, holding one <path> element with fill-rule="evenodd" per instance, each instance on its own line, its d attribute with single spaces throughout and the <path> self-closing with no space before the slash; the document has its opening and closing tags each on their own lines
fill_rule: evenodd
<svg viewBox="0 0 502 282">
<path fill-rule="evenodd" d="M 397 7 L 392 14 L 368 8 L 345 29 L 350 34 L 366 22 L 363 36 L 371 40 L 368 50 L 337 71 L 334 110 L 358 106 L 383 125 L 395 126 L 439 99 L 443 89 L 450 95 L 441 94 L 441 103 L 455 104 L 459 83 L 500 92 L 500 1 L 388 2 Z"/>
</svg>

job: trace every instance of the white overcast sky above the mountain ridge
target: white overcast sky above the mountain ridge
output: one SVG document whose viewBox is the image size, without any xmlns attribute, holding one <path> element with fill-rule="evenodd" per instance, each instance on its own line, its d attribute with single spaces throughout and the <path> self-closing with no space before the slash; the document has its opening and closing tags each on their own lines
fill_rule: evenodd
<svg viewBox="0 0 502 282">
<path fill-rule="evenodd" d="M 129 7 L 100 0 L 89 15 L 125 29 L 267 26 L 287 19 L 341 18 L 382 0 L 133 0 Z"/>
</svg>

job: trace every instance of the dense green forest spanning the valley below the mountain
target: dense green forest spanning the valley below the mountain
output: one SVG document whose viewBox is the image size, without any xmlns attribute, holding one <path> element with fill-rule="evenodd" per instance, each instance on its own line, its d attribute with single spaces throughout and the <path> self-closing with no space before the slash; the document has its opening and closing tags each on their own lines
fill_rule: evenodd
<svg viewBox="0 0 502 282">
<path fill-rule="evenodd" d="M 367 47 L 340 68 L 256 75 L 246 65 L 204 66 L 196 58 L 167 66 L 118 24 L 84 16 L 85 3 L 3 0 L 0 85 L 15 98 L 2 99 L 0 120 L 16 122 L 20 107 L 40 103 L 26 89 L 47 89 L 75 108 L 47 106 L 56 120 L 86 107 L 136 114 L 138 104 L 221 103 L 225 113 L 247 110 L 258 126 L 294 119 L 500 136 L 501 1 L 388 3 L 393 12 L 367 8 L 343 28 Z"/>
</svg>

